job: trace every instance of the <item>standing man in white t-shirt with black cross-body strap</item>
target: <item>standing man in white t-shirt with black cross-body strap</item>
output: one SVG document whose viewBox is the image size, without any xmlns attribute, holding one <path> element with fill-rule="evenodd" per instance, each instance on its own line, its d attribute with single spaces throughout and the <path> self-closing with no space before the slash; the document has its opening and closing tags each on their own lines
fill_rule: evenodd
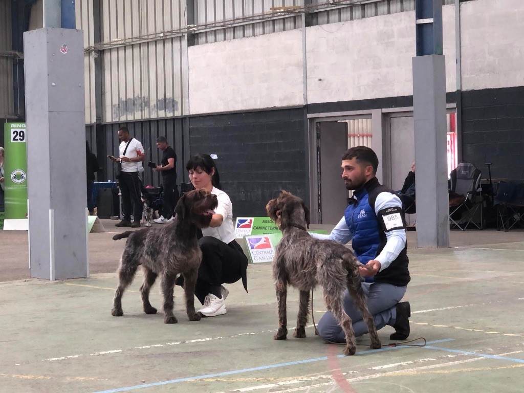
<svg viewBox="0 0 524 393">
<path fill-rule="evenodd" d="M 129 136 L 127 127 L 118 129 L 118 138 L 121 140 L 118 158 L 109 156 L 114 162 L 122 165 L 122 170 L 117 179 L 118 187 L 122 194 L 122 208 L 124 210 L 124 220 L 115 226 L 140 227 L 142 219 L 143 204 L 141 199 L 141 182 L 138 177 L 138 163 L 144 161 L 144 147 L 135 138 Z M 133 211 L 134 221 L 131 222 L 131 212 Z"/>
</svg>

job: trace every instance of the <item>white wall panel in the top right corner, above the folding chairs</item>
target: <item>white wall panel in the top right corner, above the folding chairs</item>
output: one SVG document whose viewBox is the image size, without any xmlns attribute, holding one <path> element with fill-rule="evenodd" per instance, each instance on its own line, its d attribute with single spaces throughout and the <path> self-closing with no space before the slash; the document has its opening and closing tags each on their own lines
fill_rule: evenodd
<svg viewBox="0 0 524 393">
<path fill-rule="evenodd" d="M 524 1 L 461 4 L 462 89 L 524 85 Z"/>
</svg>

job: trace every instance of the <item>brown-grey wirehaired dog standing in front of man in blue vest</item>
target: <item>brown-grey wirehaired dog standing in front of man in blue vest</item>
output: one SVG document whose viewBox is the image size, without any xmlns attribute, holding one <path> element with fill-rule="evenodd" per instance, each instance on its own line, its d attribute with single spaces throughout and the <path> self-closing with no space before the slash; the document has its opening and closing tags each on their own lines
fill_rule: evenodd
<svg viewBox="0 0 524 393">
<path fill-rule="evenodd" d="M 320 284 L 324 289 L 324 301 L 328 310 L 339 321 L 346 336 L 345 355 L 356 351 L 355 333 L 351 318 L 345 313 L 342 293 L 350 291 L 356 307 L 362 313 L 371 338 L 370 347 L 381 347 L 373 316 L 369 313 L 366 296 L 362 290 L 359 263 L 352 251 L 343 244 L 311 237 L 309 228 L 309 210 L 304 202 L 289 192 L 282 191 L 278 198 L 266 205 L 269 217 L 282 231 L 282 240 L 277 246 L 273 263 L 273 278 L 277 290 L 278 331 L 275 340 L 287 338 L 286 296 L 287 286 L 300 290 L 300 305 L 297 328 L 293 337 L 305 337 L 305 325 L 308 323 L 309 292 Z"/>
</svg>

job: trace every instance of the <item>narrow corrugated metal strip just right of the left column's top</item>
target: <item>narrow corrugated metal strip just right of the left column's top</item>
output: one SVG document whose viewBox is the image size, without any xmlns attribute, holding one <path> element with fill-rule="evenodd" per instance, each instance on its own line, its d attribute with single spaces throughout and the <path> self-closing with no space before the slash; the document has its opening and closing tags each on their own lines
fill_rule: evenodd
<svg viewBox="0 0 524 393">
<path fill-rule="evenodd" d="M 94 43 L 93 1 L 80 0 L 75 3 L 77 29 L 84 31 L 84 47 Z M 94 52 L 84 53 L 85 124 L 96 122 L 95 113 L 95 65 Z"/>
</svg>

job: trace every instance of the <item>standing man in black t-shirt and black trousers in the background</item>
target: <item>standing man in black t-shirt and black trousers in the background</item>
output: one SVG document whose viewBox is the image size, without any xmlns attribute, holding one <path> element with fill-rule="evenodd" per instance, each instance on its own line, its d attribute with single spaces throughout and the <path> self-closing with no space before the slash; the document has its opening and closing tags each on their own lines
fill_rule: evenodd
<svg viewBox="0 0 524 393">
<path fill-rule="evenodd" d="M 162 174 L 163 198 L 162 215 L 153 221 L 157 224 L 167 224 L 174 219 L 173 210 L 178 202 L 178 198 L 177 200 L 175 198 L 175 194 L 178 194 L 177 169 L 174 167 L 175 162 L 177 162 L 177 155 L 163 136 L 157 138 L 157 147 L 163 151 L 162 161 L 161 165 L 157 165 L 153 170 Z"/>
</svg>

